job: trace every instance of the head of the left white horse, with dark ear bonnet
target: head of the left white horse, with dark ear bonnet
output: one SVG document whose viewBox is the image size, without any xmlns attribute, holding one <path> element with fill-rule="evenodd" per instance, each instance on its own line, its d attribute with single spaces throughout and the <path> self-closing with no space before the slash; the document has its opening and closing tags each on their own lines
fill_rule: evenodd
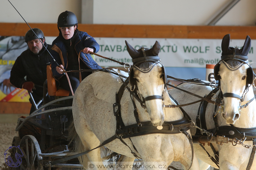
<svg viewBox="0 0 256 170">
<path fill-rule="evenodd" d="M 129 73 L 130 89 L 137 94 L 137 100 L 148 113 L 153 125 L 161 126 L 164 122 L 166 73 L 158 57 L 160 44 L 156 41 L 151 49 L 142 47 L 136 50 L 127 41 L 125 43 L 133 58 Z"/>
</svg>

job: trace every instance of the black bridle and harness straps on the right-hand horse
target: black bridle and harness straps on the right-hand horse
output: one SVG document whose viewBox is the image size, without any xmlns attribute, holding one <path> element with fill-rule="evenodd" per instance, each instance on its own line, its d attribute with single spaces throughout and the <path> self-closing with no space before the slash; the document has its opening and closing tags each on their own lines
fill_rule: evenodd
<svg viewBox="0 0 256 170">
<path fill-rule="evenodd" d="M 235 50 L 236 51 L 236 48 Z M 239 114 L 240 114 L 240 110 L 242 108 L 245 108 L 248 106 L 249 103 L 251 103 L 255 97 L 253 97 L 251 100 L 249 100 L 249 102 L 247 102 L 245 105 L 241 106 L 242 101 L 244 101 L 245 98 L 245 94 L 248 92 L 248 84 L 254 85 L 254 77 L 255 77 L 255 73 L 253 72 L 251 66 L 248 64 L 248 57 L 247 56 L 242 56 L 242 55 L 223 55 L 221 56 L 221 59 L 216 66 L 214 67 L 214 77 L 216 80 L 219 80 L 218 83 L 218 87 L 220 89 L 220 93 L 217 97 L 217 102 L 223 101 L 223 97 L 234 97 L 240 100 L 240 104 L 239 104 Z M 224 61 L 224 60 L 238 60 L 240 62 L 242 62 L 243 64 L 247 64 L 249 66 L 249 71 L 247 70 L 247 79 L 246 79 L 246 86 L 245 86 L 245 90 L 244 93 L 242 94 L 242 96 L 238 95 L 238 94 L 234 94 L 234 93 L 225 93 L 222 95 L 222 91 L 221 91 L 221 86 L 220 86 L 220 77 L 218 75 L 218 71 L 219 71 L 219 67 L 220 67 L 220 62 Z M 244 61 L 246 60 L 246 61 Z M 226 64 L 225 64 L 226 66 Z M 227 67 L 227 66 L 226 66 Z M 250 74 L 250 75 L 249 75 Z M 222 102 L 223 104 L 223 102 Z M 200 104 L 199 109 L 198 109 L 198 117 L 197 117 L 197 124 L 200 126 L 200 123 L 202 125 L 202 128 L 207 130 L 206 124 L 205 124 L 205 111 L 206 111 L 206 106 L 207 103 L 205 102 L 204 104 Z M 214 109 L 214 114 L 213 114 L 213 120 L 214 120 L 214 125 L 215 128 L 214 129 L 210 129 L 208 131 L 213 132 L 214 135 L 219 135 L 219 136 L 225 136 L 225 137 L 229 137 L 229 138 L 233 138 L 232 141 L 232 145 L 236 145 L 237 143 L 242 144 L 244 147 L 249 148 L 250 146 L 244 145 L 243 142 L 245 140 L 247 141 L 252 141 L 253 142 L 253 148 L 251 151 L 251 155 L 246 167 L 246 170 L 250 170 L 253 160 L 254 160 L 254 155 L 256 152 L 256 127 L 253 128 L 238 128 L 235 127 L 234 125 L 230 124 L 230 126 L 221 126 L 218 127 L 217 126 L 217 117 L 216 117 L 216 111 L 217 111 L 217 106 L 215 106 Z M 200 115 L 200 119 L 199 119 L 199 115 Z M 199 134 L 199 132 L 197 131 L 197 135 Z M 239 138 L 241 138 L 241 140 L 239 140 Z M 242 141 L 242 142 L 241 142 Z M 205 148 L 200 144 L 200 146 L 205 150 Z M 208 156 L 211 158 L 211 160 L 219 167 L 219 153 L 217 151 L 215 151 L 214 147 L 210 144 L 212 151 L 214 152 L 214 156 L 215 159 L 213 157 L 211 157 L 211 155 L 206 151 L 206 153 L 208 154 Z"/>
</svg>

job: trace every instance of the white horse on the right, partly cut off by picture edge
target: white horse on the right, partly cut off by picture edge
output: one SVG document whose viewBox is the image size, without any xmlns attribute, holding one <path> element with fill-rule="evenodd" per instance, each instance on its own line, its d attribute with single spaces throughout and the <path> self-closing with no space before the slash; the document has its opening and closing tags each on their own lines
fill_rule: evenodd
<svg viewBox="0 0 256 170">
<path fill-rule="evenodd" d="M 242 55 L 242 57 L 247 56 L 251 46 L 250 38 L 248 36 L 246 37 L 245 45 L 242 49 L 234 49 L 233 47 L 229 47 L 229 36 L 229 34 L 226 35 L 222 41 L 223 58 L 225 58 L 226 55 L 229 55 L 228 57 L 232 57 L 232 54 L 240 56 Z M 246 57 L 244 59 L 246 60 Z M 223 97 L 223 110 L 220 110 L 220 113 L 216 115 L 218 127 L 227 125 L 230 126 L 229 124 L 233 124 L 233 126 L 238 128 L 256 127 L 256 101 L 252 100 L 254 99 L 252 86 L 248 88 L 246 95 L 244 93 L 247 84 L 253 84 L 253 72 L 248 64 L 237 60 L 223 60 L 220 62 L 220 64 L 217 64 L 217 67 L 214 69 L 214 75 L 215 79 L 220 79 L 220 88 L 223 94 L 233 93 L 239 95 L 239 97 L 244 96 L 242 103 L 240 103 L 240 99 L 236 97 Z M 212 88 L 209 86 L 189 83 L 183 83 L 178 87 L 194 94 L 198 94 L 202 97 L 212 91 Z M 185 92 L 181 92 L 177 89 L 170 90 L 169 94 L 180 104 L 190 103 L 198 100 L 197 97 L 189 95 Z M 251 103 L 249 103 L 246 108 L 242 108 L 240 110 L 239 106 L 243 106 L 249 101 L 251 101 Z M 190 115 L 192 120 L 195 121 L 198 114 L 198 107 L 199 103 L 183 107 L 183 109 Z M 214 107 L 215 106 L 213 104 L 209 103 L 206 108 L 205 120 L 207 129 L 214 128 L 214 121 L 212 117 Z M 195 128 L 191 129 L 191 133 L 192 135 L 195 134 Z M 213 143 L 215 150 L 219 152 L 220 170 L 246 170 L 253 147 L 253 142 L 250 140 L 243 142 L 243 144 L 251 145 L 251 147 L 248 149 L 238 144 L 233 146 L 230 142 L 227 144 L 224 143 L 224 145 L 217 145 Z M 204 147 L 210 153 L 210 155 L 214 157 L 211 147 L 208 145 L 205 145 Z M 213 161 L 211 161 L 211 159 L 208 157 L 208 154 L 199 146 L 199 144 L 194 144 L 194 149 L 196 156 L 199 159 L 200 170 L 208 169 L 209 165 L 218 168 L 216 164 L 213 163 Z M 255 158 L 251 169 L 256 169 Z"/>
</svg>

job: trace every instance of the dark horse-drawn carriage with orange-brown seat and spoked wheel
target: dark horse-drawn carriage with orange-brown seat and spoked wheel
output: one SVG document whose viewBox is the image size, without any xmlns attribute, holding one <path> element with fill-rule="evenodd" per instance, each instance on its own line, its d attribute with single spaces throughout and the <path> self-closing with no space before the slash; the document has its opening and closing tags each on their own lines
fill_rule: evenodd
<svg viewBox="0 0 256 170">
<path fill-rule="evenodd" d="M 30 116 L 18 118 L 16 131 L 19 136 L 14 136 L 13 145 L 19 148 L 12 148 L 11 157 L 15 162 L 15 153 L 22 157 L 20 166 L 13 169 L 45 169 L 45 163 L 50 160 L 60 159 L 64 156 L 76 154 L 72 152 L 72 144 L 68 147 L 68 127 L 72 120 L 73 96 L 68 96 L 69 91 L 57 89 L 55 80 L 51 74 L 51 67 L 47 67 L 48 83 L 44 83 L 43 106 L 38 108 L 29 92 L 32 103 L 36 108 Z M 48 91 L 47 87 L 48 86 Z M 55 100 L 45 103 L 46 96 L 54 96 Z M 16 165 L 17 166 L 17 165 Z M 67 161 L 54 167 L 69 169 L 81 168 L 78 159 Z M 51 169 L 51 167 L 46 168 Z"/>
</svg>

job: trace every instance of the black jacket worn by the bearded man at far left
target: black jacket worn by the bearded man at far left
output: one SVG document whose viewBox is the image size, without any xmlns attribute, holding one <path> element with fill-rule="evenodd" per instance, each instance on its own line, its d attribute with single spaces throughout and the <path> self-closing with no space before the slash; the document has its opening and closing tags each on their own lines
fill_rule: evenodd
<svg viewBox="0 0 256 170">
<path fill-rule="evenodd" d="M 46 43 L 44 45 L 48 51 L 51 50 L 51 45 Z M 42 86 L 47 79 L 46 66 L 51 64 L 51 55 L 45 47 L 41 49 L 38 55 L 31 52 L 30 49 L 22 52 L 11 69 L 11 84 L 17 88 L 22 88 L 24 82 L 33 82 L 36 88 L 36 90 L 32 90 L 33 96 L 43 97 Z M 24 78 L 25 76 L 27 76 L 26 80 Z"/>
</svg>

